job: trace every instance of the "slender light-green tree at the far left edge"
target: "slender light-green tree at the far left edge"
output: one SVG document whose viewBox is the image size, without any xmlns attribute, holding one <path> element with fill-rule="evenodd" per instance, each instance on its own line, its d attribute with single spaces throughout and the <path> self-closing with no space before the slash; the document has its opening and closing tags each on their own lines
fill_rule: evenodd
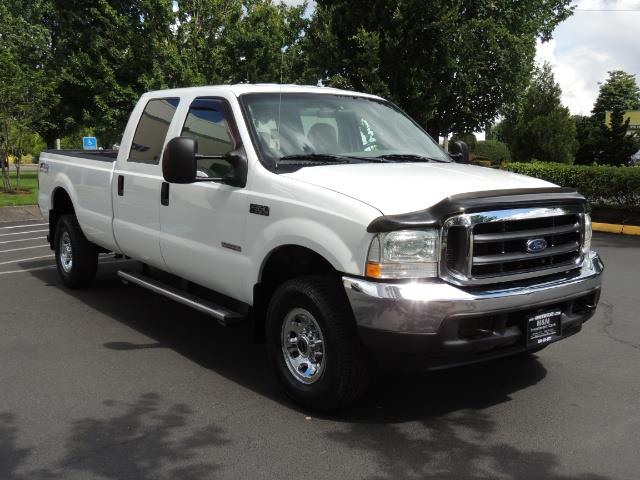
<svg viewBox="0 0 640 480">
<path fill-rule="evenodd" d="M 13 2 L 0 3 L 0 158 L 27 153 L 34 125 L 44 121 L 55 101 L 53 84 L 43 66 L 50 38 L 47 30 L 16 13 Z M 12 190 L 3 162 L 3 188 Z"/>
</svg>

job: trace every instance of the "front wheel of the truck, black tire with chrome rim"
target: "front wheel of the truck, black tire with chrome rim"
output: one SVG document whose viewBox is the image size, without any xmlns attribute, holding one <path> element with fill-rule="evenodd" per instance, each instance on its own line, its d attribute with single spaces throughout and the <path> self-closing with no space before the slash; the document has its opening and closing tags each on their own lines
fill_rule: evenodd
<svg viewBox="0 0 640 480">
<path fill-rule="evenodd" d="M 373 364 L 333 277 L 300 277 L 282 284 L 267 311 L 267 342 L 287 395 L 305 407 L 343 408 L 368 387 Z"/>
</svg>

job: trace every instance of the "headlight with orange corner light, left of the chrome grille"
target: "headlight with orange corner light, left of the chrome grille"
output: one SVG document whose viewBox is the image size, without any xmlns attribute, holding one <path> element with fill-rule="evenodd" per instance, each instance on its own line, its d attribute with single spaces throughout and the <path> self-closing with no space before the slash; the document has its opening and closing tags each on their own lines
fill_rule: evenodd
<svg viewBox="0 0 640 480">
<path fill-rule="evenodd" d="M 438 275 L 437 230 L 398 230 L 373 237 L 366 274 L 372 278 L 426 278 Z"/>
</svg>

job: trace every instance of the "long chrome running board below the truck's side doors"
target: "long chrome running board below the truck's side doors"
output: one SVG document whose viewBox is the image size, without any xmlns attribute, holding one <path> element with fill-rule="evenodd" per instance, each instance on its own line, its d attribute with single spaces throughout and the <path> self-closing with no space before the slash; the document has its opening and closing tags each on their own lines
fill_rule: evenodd
<svg viewBox="0 0 640 480">
<path fill-rule="evenodd" d="M 126 270 L 118 270 L 118 276 L 125 283 L 133 283 L 152 292 L 158 293 L 178 303 L 191 307 L 215 318 L 221 325 L 230 326 L 243 323 L 246 317 L 238 312 L 224 308 L 195 295 L 183 292 L 177 288 L 158 282 L 139 273 L 131 273 Z"/>
</svg>

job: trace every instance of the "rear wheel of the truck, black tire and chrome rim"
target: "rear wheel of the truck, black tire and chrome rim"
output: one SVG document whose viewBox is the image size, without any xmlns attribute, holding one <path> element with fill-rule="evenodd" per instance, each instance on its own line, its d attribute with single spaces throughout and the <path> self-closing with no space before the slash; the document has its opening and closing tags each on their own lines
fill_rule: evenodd
<svg viewBox="0 0 640 480">
<path fill-rule="evenodd" d="M 69 288 L 86 288 L 96 278 L 98 248 L 82 233 L 75 215 L 58 220 L 54 238 L 58 274 Z"/>
</svg>

